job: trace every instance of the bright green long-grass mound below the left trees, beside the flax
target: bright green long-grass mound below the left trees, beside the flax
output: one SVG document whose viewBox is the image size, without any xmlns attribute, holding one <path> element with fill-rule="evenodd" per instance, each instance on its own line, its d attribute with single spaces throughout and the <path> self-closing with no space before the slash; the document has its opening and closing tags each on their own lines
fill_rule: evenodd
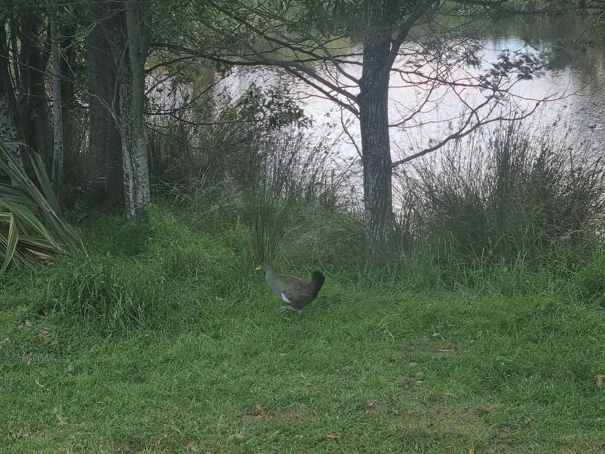
<svg viewBox="0 0 605 454">
<path fill-rule="evenodd" d="M 226 278 L 241 275 L 231 248 L 216 236 L 192 232 L 162 208 L 152 209 L 143 228 L 106 215 L 87 235 L 88 254 L 54 265 L 40 312 L 114 332 L 203 309 L 243 287 Z"/>
</svg>

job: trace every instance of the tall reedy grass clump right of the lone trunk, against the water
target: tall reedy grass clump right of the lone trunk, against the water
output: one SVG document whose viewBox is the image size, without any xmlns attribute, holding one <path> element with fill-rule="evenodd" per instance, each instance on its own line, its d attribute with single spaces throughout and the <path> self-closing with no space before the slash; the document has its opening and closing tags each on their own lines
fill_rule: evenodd
<svg viewBox="0 0 605 454">
<path fill-rule="evenodd" d="M 480 139 L 420 163 L 402 180 L 402 249 L 420 251 L 465 283 L 544 263 L 563 270 L 589 257 L 603 234 L 600 160 L 570 155 L 520 123 Z"/>
</svg>

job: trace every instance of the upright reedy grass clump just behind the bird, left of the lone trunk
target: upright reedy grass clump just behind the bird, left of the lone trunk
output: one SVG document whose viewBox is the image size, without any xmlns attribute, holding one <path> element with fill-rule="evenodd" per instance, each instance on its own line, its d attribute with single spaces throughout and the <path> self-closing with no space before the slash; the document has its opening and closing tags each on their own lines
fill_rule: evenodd
<svg viewBox="0 0 605 454">
<path fill-rule="evenodd" d="M 342 194 L 348 176 L 330 166 L 329 150 L 299 131 L 259 137 L 252 143 L 244 210 L 235 230 L 247 260 L 318 262 L 356 255 L 359 218 Z M 326 159 L 328 158 L 328 159 Z"/>
</svg>

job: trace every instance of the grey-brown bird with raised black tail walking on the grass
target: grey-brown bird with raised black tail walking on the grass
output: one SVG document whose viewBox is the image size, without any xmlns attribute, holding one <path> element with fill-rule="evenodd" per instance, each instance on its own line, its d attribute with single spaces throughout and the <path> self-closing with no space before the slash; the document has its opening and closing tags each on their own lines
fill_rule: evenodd
<svg viewBox="0 0 605 454">
<path fill-rule="evenodd" d="M 277 314 L 294 311 L 298 313 L 298 321 L 302 321 L 305 306 L 317 298 L 319 290 L 324 285 L 324 275 L 319 271 L 313 271 L 311 281 L 306 282 L 296 276 L 278 273 L 269 262 L 258 265 L 257 271 L 259 269 L 264 271 L 267 284 L 273 293 L 287 303 L 277 310 Z"/>
</svg>

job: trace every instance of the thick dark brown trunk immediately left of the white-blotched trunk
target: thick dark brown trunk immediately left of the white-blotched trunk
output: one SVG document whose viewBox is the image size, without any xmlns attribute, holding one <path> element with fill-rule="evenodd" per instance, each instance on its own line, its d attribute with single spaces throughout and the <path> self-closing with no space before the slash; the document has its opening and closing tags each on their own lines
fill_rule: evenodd
<svg viewBox="0 0 605 454">
<path fill-rule="evenodd" d="M 90 99 L 88 116 L 88 154 L 85 194 L 88 203 L 102 208 L 116 208 L 124 200 L 122 143 L 112 116 L 116 97 L 116 62 L 110 38 L 121 27 L 113 10 L 104 1 L 96 2 L 97 23 L 87 39 L 88 84 Z"/>
</svg>

